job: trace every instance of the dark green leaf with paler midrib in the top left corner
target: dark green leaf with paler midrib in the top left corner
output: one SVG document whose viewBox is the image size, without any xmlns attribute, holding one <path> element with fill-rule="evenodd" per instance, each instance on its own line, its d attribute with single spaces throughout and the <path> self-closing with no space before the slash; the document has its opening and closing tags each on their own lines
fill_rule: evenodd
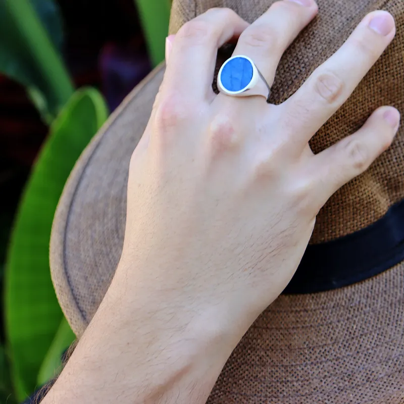
<svg viewBox="0 0 404 404">
<path fill-rule="evenodd" d="M 61 41 L 61 17 L 53 0 L 0 0 L 0 72 L 26 87 L 48 123 L 73 93 L 57 52 Z"/>
</svg>

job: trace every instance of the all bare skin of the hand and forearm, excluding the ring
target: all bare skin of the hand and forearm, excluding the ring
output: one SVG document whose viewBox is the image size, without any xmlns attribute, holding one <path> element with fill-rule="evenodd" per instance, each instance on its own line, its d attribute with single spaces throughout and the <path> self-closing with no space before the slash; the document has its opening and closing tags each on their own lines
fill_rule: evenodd
<svg viewBox="0 0 404 404">
<path fill-rule="evenodd" d="M 386 12 L 366 16 L 281 105 L 213 93 L 217 48 L 238 37 L 235 54 L 272 84 L 282 53 L 317 14 L 309 3 L 277 2 L 252 25 L 212 9 L 175 36 L 130 163 L 120 264 L 44 404 L 205 403 L 242 335 L 293 276 L 320 208 L 390 145 L 399 113 L 388 106 L 316 156 L 308 144 L 393 39 Z"/>
</svg>

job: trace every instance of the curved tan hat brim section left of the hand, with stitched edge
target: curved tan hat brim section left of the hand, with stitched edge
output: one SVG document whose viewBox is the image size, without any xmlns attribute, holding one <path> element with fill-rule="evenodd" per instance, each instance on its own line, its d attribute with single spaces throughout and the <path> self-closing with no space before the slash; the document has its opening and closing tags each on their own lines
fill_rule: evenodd
<svg viewBox="0 0 404 404">
<path fill-rule="evenodd" d="M 111 115 L 80 156 L 59 201 L 50 244 L 51 276 L 77 336 L 98 308 L 120 259 L 129 161 L 164 71 L 164 64 L 153 70 Z"/>
</svg>

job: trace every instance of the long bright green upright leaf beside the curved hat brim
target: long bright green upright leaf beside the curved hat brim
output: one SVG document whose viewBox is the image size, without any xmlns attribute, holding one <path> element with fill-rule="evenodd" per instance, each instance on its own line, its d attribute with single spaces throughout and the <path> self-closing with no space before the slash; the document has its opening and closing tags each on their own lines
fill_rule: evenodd
<svg viewBox="0 0 404 404">
<path fill-rule="evenodd" d="M 21 200 L 5 273 L 6 333 L 19 400 L 35 389 L 63 318 L 48 261 L 56 207 L 76 160 L 107 116 L 97 90 L 74 93 L 51 127 Z"/>
</svg>

